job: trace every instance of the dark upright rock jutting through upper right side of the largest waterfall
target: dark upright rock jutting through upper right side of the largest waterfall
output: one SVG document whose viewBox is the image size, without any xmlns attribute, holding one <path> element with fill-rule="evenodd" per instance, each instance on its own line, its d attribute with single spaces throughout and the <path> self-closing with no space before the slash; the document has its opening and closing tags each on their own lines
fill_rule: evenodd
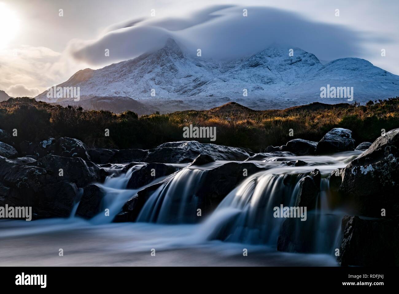
<svg viewBox="0 0 399 294">
<path fill-rule="evenodd" d="M 314 169 L 310 175 L 304 177 L 299 183 L 298 198 L 296 205 L 307 207 L 307 211 L 316 208 L 317 196 L 320 193 L 321 174 L 318 169 Z"/>
</svg>

